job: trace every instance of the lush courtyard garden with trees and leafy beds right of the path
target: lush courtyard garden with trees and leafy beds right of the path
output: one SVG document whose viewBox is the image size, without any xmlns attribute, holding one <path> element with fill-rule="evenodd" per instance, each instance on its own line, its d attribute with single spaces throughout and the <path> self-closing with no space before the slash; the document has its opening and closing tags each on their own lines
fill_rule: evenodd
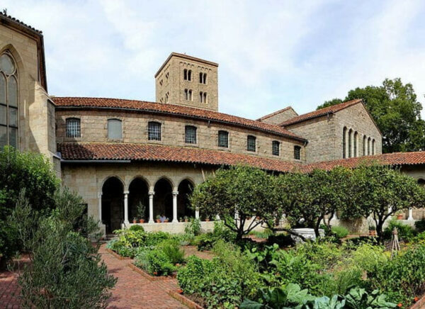
<svg viewBox="0 0 425 309">
<path fill-rule="evenodd" d="M 234 167 L 191 198 L 220 216 L 212 232 L 198 220 L 181 235 L 132 227 L 108 247 L 147 274 L 176 276 L 183 296 L 205 308 L 409 308 L 425 293 L 425 221 L 410 227 L 397 215 L 423 201 L 414 179 L 387 167 L 278 176 Z M 346 238 L 348 230 L 329 224 L 336 211 L 367 218 L 376 236 Z M 295 245 L 293 227 L 322 228 L 325 236 Z M 214 257 L 185 258 L 188 245 Z"/>
</svg>

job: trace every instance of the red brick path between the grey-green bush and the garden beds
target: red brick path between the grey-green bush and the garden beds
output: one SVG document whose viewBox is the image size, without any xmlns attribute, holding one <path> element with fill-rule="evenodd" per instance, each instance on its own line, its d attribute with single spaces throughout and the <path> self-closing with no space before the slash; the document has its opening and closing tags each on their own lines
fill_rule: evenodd
<svg viewBox="0 0 425 309">
<path fill-rule="evenodd" d="M 113 257 L 105 246 L 101 245 L 99 253 L 109 273 L 118 278 L 108 308 L 186 308 L 166 293 L 179 288 L 176 279 L 149 281 L 130 269 L 130 260 Z"/>
</svg>

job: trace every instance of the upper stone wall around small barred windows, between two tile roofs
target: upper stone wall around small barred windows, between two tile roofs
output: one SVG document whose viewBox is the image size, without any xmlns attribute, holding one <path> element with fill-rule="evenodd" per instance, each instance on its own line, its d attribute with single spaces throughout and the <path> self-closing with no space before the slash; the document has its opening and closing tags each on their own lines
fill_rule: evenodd
<svg viewBox="0 0 425 309">
<path fill-rule="evenodd" d="M 81 137 L 66 137 L 66 119 L 80 118 Z M 108 139 L 108 118 L 118 118 L 123 120 L 123 140 Z M 147 140 L 147 123 L 158 121 L 162 123 L 162 140 Z M 217 125 L 202 120 L 189 120 L 177 116 L 154 116 L 141 112 L 118 112 L 118 111 L 56 111 L 57 142 L 135 142 L 154 143 L 159 145 L 190 146 L 208 148 L 212 150 L 223 150 L 244 154 L 256 154 L 261 157 L 272 157 L 285 161 L 295 161 L 293 158 L 294 145 L 301 146 L 301 160 L 305 158 L 305 150 L 302 142 L 289 140 L 284 137 L 260 133 L 254 130 L 246 130 L 230 125 Z M 185 125 L 195 125 L 197 128 L 197 144 L 185 143 Z M 218 131 L 227 130 L 229 133 L 229 147 L 218 147 Z M 247 135 L 256 136 L 256 152 L 246 150 Z M 280 142 L 280 156 L 272 154 L 272 141 Z"/>
</svg>

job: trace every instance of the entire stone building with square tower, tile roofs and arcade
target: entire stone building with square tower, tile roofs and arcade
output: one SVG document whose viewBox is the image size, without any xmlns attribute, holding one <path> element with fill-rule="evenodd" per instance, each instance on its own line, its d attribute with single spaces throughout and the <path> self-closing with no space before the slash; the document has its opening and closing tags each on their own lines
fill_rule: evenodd
<svg viewBox="0 0 425 309">
<path fill-rule="evenodd" d="M 218 111 L 217 68 L 171 53 L 155 74 L 157 102 L 49 96 L 42 33 L 0 13 L 0 147 L 45 154 L 105 233 L 140 217 L 146 230 L 183 231 L 185 217 L 208 228 L 188 195 L 222 166 L 308 172 L 373 158 L 425 179 L 423 152 L 381 154 L 361 100 L 250 120 Z"/>
</svg>

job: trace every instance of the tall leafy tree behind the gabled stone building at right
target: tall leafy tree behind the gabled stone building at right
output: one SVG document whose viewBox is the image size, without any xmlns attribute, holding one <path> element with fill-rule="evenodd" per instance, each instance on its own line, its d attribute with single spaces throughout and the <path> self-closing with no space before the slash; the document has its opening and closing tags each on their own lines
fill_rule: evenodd
<svg viewBox="0 0 425 309">
<path fill-rule="evenodd" d="M 425 149 L 425 122 L 422 106 L 412 84 L 385 79 L 382 86 L 365 86 L 348 91 L 344 101 L 363 99 L 366 108 L 382 132 L 382 152 L 408 152 Z M 341 103 L 326 101 L 317 109 Z"/>
</svg>

